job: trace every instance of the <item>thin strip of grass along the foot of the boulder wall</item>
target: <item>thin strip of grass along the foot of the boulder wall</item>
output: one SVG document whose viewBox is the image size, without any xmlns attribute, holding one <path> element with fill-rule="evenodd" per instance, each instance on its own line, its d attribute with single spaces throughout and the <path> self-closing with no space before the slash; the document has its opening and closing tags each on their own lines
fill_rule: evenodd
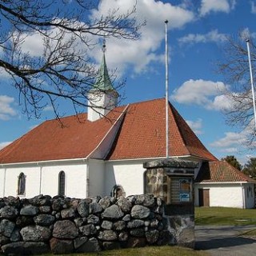
<svg viewBox="0 0 256 256">
<path fill-rule="evenodd" d="M 44 254 L 52 256 L 53 254 Z M 122 250 L 108 250 L 98 253 L 86 254 L 58 254 L 59 256 L 208 256 L 202 251 L 191 250 L 178 246 L 148 246 L 143 248 L 130 248 Z"/>
</svg>

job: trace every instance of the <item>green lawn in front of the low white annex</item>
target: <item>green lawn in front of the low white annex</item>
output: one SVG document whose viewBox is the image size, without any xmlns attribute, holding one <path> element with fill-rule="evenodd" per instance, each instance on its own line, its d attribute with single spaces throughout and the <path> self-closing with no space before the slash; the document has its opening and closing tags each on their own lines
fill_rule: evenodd
<svg viewBox="0 0 256 256">
<path fill-rule="evenodd" d="M 256 209 L 195 207 L 196 225 L 256 225 Z"/>
</svg>

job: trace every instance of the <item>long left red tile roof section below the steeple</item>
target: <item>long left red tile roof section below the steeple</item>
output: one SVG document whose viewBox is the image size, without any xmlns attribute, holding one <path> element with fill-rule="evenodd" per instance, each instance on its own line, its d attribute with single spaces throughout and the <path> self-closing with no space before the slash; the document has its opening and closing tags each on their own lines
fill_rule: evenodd
<svg viewBox="0 0 256 256">
<path fill-rule="evenodd" d="M 79 119 L 78 119 L 79 118 Z M 87 121 L 87 114 L 43 122 L 0 151 L 0 163 L 86 158 L 101 142 L 110 120 Z"/>
</svg>

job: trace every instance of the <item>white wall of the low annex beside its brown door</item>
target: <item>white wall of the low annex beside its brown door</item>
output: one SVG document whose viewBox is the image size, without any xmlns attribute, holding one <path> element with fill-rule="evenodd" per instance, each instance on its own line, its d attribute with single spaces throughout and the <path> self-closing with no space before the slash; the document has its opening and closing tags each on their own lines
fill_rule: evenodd
<svg viewBox="0 0 256 256">
<path fill-rule="evenodd" d="M 199 189 L 209 189 L 210 207 L 245 207 L 244 187 L 241 183 L 195 184 L 195 206 L 199 206 Z"/>
</svg>

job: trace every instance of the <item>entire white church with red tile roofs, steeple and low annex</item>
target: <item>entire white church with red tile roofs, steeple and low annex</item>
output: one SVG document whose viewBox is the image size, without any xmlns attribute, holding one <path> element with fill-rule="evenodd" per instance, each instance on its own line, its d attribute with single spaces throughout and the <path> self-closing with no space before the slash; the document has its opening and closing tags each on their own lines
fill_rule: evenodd
<svg viewBox="0 0 256 256">
<path fill-rule="evenodd" d="M 88 113 L 50 120 L 0 150 L 0 198 L 144 193 L 143 162 L 166 158 L 166 100 L 117 106 L 105 53 Z M 253 208 L 255 180 L 211 154 L 169 102 L 169 154 L 199 163 L 196 206 Z"/>
</svg>

